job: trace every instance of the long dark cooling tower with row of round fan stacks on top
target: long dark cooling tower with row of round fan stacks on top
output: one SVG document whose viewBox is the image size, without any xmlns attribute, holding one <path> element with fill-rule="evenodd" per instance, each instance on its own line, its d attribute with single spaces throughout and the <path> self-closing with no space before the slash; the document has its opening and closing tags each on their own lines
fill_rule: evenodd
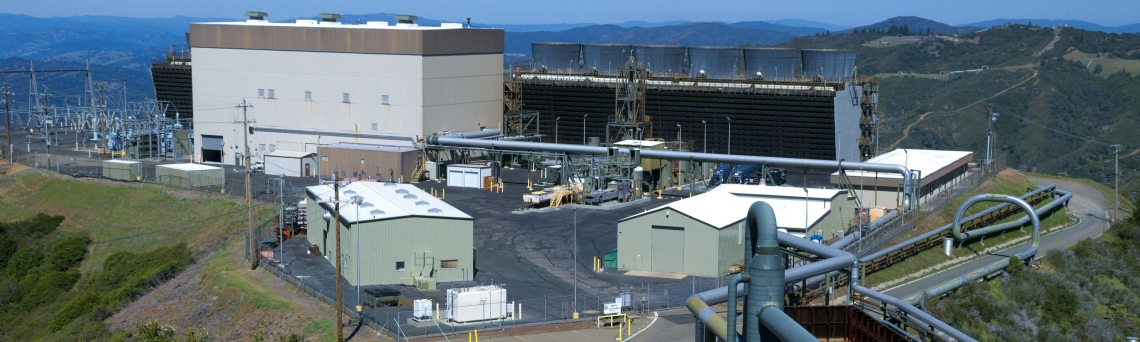
<svg viewBox="0 0 1140 342">
<path fill-rule="evenodd" d="M 534 43 L 532 52 L 534 70 L 505 87 L 506 106 L 537 111 L 543 141 L 679 137 L 694 152 L 874 155 L 878 90 L 855 79 L 854 51 Z M 636 135 L 616 136 L 621 121 Z"/>
</svg>

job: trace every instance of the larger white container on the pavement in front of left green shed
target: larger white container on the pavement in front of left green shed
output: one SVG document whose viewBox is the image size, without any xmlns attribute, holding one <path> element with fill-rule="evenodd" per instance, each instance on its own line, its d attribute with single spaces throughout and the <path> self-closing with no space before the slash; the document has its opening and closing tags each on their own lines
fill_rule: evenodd
<svg viewBox="0 0 1140 342">
<path fill-rule="evenodd" d="M 447 291 L 447 317 L 456 323 L 503 319 L 506 307 L 506 290 L 497 285 Z"/>
</svg>

